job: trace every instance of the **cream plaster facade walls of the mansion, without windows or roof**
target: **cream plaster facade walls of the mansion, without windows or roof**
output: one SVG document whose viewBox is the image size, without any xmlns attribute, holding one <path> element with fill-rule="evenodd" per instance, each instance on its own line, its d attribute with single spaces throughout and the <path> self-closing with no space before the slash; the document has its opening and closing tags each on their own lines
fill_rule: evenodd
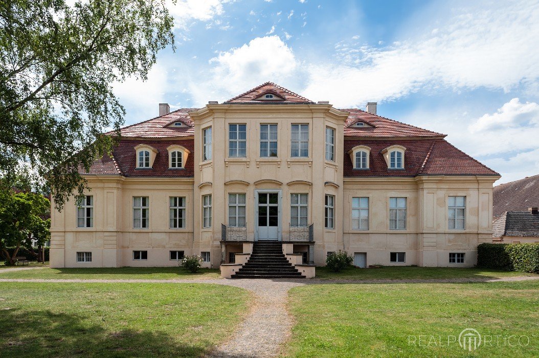
<svg viewBox="0 0 539 358">
<path fill-rule="evenodd" d="M 345 177 L 343 162 L 350 157 L 343 150 L 343 130 L 348 115 L 326 103 L 210 104 L 189 112 L 194 128 L 182 140 L 194 140 L 195 150 L 185 152 L 194 160 L 194 175 L 87 175 L 91 190 L 86 194 L 93 197 L 92 225 L 78 227 L 74 200 L 62 212 L 52 211 L 51 267 L 176 266 L 171 251 L 209 252 L 204 265 L 218 267 L 230 262 L 231 253 L 249 250 L 245 243 L 265 238 L 287 243 L 295 253 L 305 252 L 305 260 L 315 265 L 324 265 L 328 252 L 345 250 L 363 258 L 361 265 L 366 266 L 473 266 L 476 246 L 492 241 L 492 184 L 497 176 Z M 246 125 L 245 157 L 229 156 L 233 124 Z M 277 156 L 260 156 L 264 124 L 277 125 Z M 292 126 L 298 124 L 308 128 L 305 157 L 291 156 Z M 210 127 L 211 159 L 205 160 L 204 129 Z M 326 128 L 334 130 L 333 160 L 326 159 Z M 125 140 L 133 141 L 136 148 L 140 144 L 151 147 L 161 139 L 153 138 L 151 143 L 136 137 Z M 132 155 L 138 155 L 137 149 Z M 153 162 L 156 154 L 151 155 Z M 246 228 L 236 238 L 234 230 L 229 231 L 229 194 L 245 195 Z M 267 194 L 275 194 L 271 198 L 277 197 L 277 209 L 260 203 Z M 300 210 L 291 208 L 296 194 L 306 194 L 302 198 L 307 199 L 307 219 L 303 219 L 307 226 L 299 236 L 291 232 L 295 230 L 292 213 Z M 204 220 L 204 212 L 206 216 L 209 212 L 204 197 L 209 195 L 211 225 Z M 333 225 L 326 223 L 327 195 L 333 197 Z M 465 197 L 464 229 L 448 228 L 450 196 Z M 148 228 L 133 228 L 134 197 L 148 198 Z M 170 197 L 185 198 L 184 228 L 170 228 Z M 353 229 L 354 197 L 369 198 L 368 230 Z M 390 229 L 392 197 L 406 198 L 405 229 Z M 260 219 L 262 212 L 274 214 L 275 210 L 277 221 Z M 269 225 L 269 220 L 277 224 Z M 146 259 L 135 251 L 146 251 Z M 82 252 L 91 252 L 91 261 L 81 260 Z M 402 262 L 392 260 L 396 256 L 392 253 L 402 252 L 404 260 L 400 254 L 398 260 Z M 464 253 L 464 263 L 450 263 L 450 253 Z"/>
</svg>

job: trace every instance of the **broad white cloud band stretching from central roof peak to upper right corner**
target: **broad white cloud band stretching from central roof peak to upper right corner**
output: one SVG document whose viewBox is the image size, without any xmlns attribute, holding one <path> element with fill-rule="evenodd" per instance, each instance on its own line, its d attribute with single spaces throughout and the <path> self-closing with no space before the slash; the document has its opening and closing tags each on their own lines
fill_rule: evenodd
<svg viewBox="0 0 539 358">
<path fill-rule="evenodd" d="M 472 5 L 471 5 L 472 6 Z M 415 38 L 360 50 L 340 63 L 308 65 L 309 98 L 338 106 L 403 97 L 419 89 L 508 91 L 539 78 L 539 6 L 535 2 L 475 4 L 450 9 L 448 19 Z M 424 27 L 429 29 L 429 25 Z"/>
</svg>

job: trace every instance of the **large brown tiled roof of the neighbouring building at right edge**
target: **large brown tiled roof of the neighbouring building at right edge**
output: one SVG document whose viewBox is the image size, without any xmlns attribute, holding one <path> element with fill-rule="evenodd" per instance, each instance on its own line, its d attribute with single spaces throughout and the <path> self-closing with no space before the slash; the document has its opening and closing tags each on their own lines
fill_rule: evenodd
<svg viewBox="0 0 539 358">
<path fill-rule="evenodd" d="M 496 185 L 493 201 L 493 220 L 506 211 L 528 211 L 539 206 L 539 175 Z"/>
</svg>

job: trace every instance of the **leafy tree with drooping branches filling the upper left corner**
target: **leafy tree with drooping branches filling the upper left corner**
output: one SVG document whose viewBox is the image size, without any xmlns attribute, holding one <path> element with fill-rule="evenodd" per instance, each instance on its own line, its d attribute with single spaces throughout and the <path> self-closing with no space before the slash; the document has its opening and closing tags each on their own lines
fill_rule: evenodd
<svg viewBox="0 0 539 358">
<path fill-rule="evenodd" d="M 51 188 L 57 209 L 110 155 L 125 110 L 112 84 L 147 79 L 171 44 L 163 0 L 0 2 L 0 178 Z M 141 93 L 141 95 L 143 95 Z"/>
</svg>

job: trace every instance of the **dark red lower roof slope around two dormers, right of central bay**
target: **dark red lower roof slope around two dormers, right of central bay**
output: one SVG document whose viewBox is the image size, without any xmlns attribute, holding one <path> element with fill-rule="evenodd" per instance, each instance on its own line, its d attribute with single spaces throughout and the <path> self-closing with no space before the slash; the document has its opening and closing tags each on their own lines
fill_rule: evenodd
<svg viewBox="0 0 539 358">
<path fill-rule="evenodd" d="M 398 144 L 406 148 L 404 169 L 388 169 L 382 150 Z M 348 151 L 356 146 L 371 148 L 368 170 L 354 169 Z M 498 175 L 444 139 L 344 140 L 345 177 L 399 177 L 417 175 Z"/>
</svg>

